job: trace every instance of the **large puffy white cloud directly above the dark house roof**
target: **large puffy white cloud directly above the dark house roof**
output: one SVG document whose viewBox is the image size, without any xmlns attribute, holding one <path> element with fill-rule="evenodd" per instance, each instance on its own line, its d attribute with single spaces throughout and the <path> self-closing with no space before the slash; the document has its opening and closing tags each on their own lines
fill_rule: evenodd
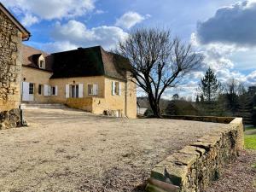
<svg viewBox="0 0 256 192">
<path fill-rule="evenodd" d="M 128 33 L 117 26 L 97 26 L 88 29 L 82 22 L 69 20 L 62 25 L 56 22 L 52 32 L 55 42 L 46 44 L 45 47 L 49 51 L 96 45 L 102 45 L 104 49 L 113 49 L 119 40 L 124 40 L 127 36 Z"/>
</svg>

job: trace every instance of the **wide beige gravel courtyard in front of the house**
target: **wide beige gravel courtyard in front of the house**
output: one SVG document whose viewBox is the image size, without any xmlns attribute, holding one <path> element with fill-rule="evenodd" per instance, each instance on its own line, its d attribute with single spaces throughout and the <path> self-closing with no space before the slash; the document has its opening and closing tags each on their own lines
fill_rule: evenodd
<svg viewBox="0 0 256 192">
<path fill-rule="evenodd" d="M 143 191 L 167 155 L 220 124 L 116 119 L 27 109 L 28 128 L 0 131 L 0 191 Z"/>
</svg>

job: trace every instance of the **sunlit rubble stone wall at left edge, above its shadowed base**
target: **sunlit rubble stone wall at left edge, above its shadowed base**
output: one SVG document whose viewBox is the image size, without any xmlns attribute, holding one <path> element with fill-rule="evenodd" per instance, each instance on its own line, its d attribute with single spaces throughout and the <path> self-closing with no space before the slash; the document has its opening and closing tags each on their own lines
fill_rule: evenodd
<svg viewBox="0 0 256 192">
<path fill-rule="evenodd" d="M 20 105 L 22 34 L 0 11 L 0 112 Z"/>
</svg>

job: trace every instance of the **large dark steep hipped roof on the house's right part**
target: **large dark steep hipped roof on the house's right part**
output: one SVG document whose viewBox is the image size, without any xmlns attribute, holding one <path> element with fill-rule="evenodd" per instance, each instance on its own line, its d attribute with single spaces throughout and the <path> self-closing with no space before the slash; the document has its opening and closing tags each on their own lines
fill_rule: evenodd
<svg viewBox="0 0 256 192">
<path fill-rule="evenodd" d="M 53 54 L 54 74 L 51 79 L 105 75 L 125 80 L 129 61 L 109 53 L 100 46 L 79 48 Z"/>
</svg>

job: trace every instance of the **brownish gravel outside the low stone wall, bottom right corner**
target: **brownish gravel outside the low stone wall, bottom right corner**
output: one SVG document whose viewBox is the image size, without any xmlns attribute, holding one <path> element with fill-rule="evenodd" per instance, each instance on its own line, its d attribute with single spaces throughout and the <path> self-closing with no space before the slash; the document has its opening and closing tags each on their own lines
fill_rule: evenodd
<svg viewBox="0 0 256 192">
<path fill-rule="evenodd" d="M 256 191 L 256 151 L 241 153 L 235 163 L 226 167 L 224 175 L 207 189 L 207 192 L 255 192 Z"/>
</svg>

